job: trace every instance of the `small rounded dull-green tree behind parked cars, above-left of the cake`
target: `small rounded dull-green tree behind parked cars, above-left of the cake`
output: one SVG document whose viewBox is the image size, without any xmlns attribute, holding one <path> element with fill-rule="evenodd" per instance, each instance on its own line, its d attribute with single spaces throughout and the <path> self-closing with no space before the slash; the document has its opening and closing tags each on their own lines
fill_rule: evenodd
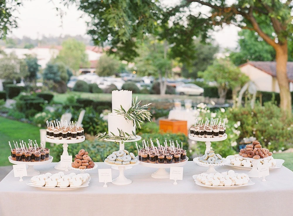
<svg viewBox="0 0 293 216">
<path fill-rule="evenodd" d="M 120 64 L 113 55 L 102 55 L 98 60 L 96 73 L 101 77 L 115 75 L 119 72 Z"/>
</svg>

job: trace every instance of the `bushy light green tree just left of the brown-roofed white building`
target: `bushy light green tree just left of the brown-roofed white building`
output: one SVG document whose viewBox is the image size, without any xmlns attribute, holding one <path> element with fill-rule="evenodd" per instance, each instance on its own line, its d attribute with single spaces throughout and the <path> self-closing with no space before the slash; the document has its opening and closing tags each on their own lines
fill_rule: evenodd
<svg viewBox="0 0 293 216">
<path fill-rule="evenodd" d="M 207 70 L 199 72 L 198 75 L 206 82 L 217 83 L 218 94 L 221 99 L 226 99 L 226 94 L 229 89 L 234 90 L 234 94 L 236 94 L 241 86 L 249 80 L 249 78 L 240 71 L 239 67 L 226 59 L 215 60 L 212 65 L 207 67 Z M 234 96 L 236 97 L 236 95 Z"/>
</svg>

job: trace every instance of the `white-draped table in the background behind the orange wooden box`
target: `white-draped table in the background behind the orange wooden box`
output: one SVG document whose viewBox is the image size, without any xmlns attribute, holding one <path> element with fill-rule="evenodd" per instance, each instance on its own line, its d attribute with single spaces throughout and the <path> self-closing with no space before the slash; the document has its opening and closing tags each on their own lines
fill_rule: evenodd
<svg viewBox="0 0 293 216">
<path fill-rule="evenodd" d="M 186 109 L 172 109 L 169 112 L 168 119 L 187 121 L 187 128 L 189 130 L 191 125 L 195 124 L 195 119 L 198 117 L 197 110 Z"/>
</svg>

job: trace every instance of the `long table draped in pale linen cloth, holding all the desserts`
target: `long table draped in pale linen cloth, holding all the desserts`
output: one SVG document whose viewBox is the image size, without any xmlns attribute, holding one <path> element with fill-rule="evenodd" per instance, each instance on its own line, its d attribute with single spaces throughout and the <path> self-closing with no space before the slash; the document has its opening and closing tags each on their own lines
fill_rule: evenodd
<svg viewBox="0 0 293 216">
<path fill-rule="evenodd" d="M 57 163 L 39 166 L 41 174 L 59 171 Z M 98 168 L 109 168 L 97 163 Z M 221 166 L 217 171 L 232 169 Z M 98 181 L 98 169 L 88 171 L 91 181 L 88 187 L 67 191 L 44 190 L 26 185 L 13 177 L 11 171 L 0 183 L 0 215 L 292 215 L 293 172 L 285 167 L 270 170 L 265 182 L 251 178 L 255 185 L 239 188 L 205 188 L 195 184 L 192 176 L 206 167 L 192 161 L 183 167 L 183 180 L 173 185 L 173 180 L 154 179 L 156 168 L 134 166 L 127 170 L 130 185 L 113 185 L 103 188 Z M 237 173 L 249 170 L 234 169 Z M 69 171 L 67 173 L 79 173 Z M 119 171 L 112 171 L 116 178 Z M 152 212 L 152 213 L 151 213 Z"/>
</svg>

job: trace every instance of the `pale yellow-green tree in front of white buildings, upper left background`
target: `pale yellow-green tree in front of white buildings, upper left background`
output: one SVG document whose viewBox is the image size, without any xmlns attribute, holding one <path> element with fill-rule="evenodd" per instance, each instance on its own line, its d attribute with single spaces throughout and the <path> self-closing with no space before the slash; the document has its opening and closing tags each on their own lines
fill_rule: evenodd
<svg viewBox="0 0 293 216">
<path fill-rule="evenodd" d="M 62 50 L 60 50 L 54 62 L 62 62 L 74 71 L 78 71 L 80 65 L 88 66 L 86 45 L 74 38 L 67 39 L 62 43 Z"/>
</svg>

